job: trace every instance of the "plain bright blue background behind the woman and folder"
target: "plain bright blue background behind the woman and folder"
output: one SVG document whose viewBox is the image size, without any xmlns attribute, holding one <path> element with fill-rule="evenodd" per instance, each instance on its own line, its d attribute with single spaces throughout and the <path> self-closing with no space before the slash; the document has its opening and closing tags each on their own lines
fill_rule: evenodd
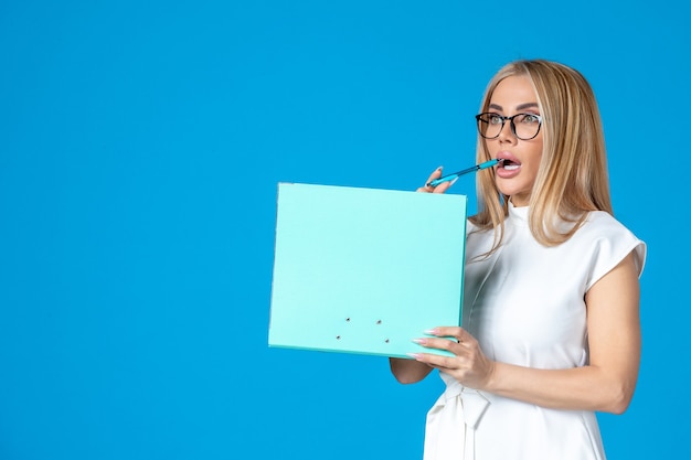
<svg viewBox="0 0 691 460">
<path fill-rule="evenodd" d="M 421 458 L 438 378 L 267 346 L 276 186 L 472 164 L 485 85 L 522 57 L 591 81 L 649 245 L 609 458 L 688 452 L 689 12 L 554 3 L 2 2 L 0 458 Z"/>
</svg>

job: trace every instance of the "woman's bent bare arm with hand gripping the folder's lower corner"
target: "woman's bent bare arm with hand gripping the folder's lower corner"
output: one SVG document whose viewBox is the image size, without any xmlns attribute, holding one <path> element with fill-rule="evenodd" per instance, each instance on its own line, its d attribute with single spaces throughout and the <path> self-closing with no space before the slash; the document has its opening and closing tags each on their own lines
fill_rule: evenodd
<svg viewBox="0 0 691 460">
<path fill-rule="evenodd" d="M 538 370 L 492 362 L 475 338 L 460 328 L 437 328 L 444 339 L 423 339 L 424 346 L 448 350 L 455 357 L 418 354 L 418 362 L 437 367 L 471 388 L 556 409 L 621 414 L 636 387 L 640 361 L 638 271 L 634 256 L 599 279 L 586 293 L 588 365 Z"/>
</svg>

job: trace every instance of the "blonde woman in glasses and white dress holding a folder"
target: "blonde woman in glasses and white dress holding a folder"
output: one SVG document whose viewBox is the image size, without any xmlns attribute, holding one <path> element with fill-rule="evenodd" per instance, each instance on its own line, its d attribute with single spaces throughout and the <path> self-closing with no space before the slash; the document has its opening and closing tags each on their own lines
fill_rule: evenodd
<svg viewBox="0 0 691 460">
<path fill-rule="evenodd" d="M 646 245 L 613 217 L 597 103 L 573 68 L 519 61 L 480 111 L 477 160 L 501 161 L 478 172 L 463 328 L 426 331 L 430 353 L 391 370 L 414 383 L 437 368 L 447 385 L 425 460 L 605 459 L 595 411 L 634 395 Z"/>
</svg>

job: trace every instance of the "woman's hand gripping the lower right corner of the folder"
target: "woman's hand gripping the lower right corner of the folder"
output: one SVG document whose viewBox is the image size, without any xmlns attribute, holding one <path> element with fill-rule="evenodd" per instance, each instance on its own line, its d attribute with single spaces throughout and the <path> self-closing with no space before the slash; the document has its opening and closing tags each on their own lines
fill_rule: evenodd
<svg viewBox="0 0 691 460">
<path fill-rule="evenodd" d="M 480 344 L 470 333 L 457 327 L 435 328 L 427 333 L 433 336 L 416 339 L 414 342 L 427 349 L 446 350 L 454 356 L 416 353 L 412 355 L 416 361 L 449 374 L 470 388 L 483 389 L 488 386 L 495 372 L 495 362 L 482 353 Z"/>
</svg>

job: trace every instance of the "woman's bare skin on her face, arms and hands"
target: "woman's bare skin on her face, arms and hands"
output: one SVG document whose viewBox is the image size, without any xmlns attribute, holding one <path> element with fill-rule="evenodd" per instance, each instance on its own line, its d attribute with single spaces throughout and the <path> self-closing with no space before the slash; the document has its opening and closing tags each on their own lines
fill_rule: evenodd
<svg viewBox="0 0 691 460">
<path fill-rule="evenodd" d="M 528 85 L 528 86 L 527 86 Z M 510 116 L 535 99 L 521 77 L 503 81 L 492 96 L 493 109 Z M 523 110 L 523 109 L 521 109 Z M 511 156 L 519 173 L 497 174 L 497 185 L 511 195 L 515 206 L 527 205 L 536 174 L 542 137 L 523 141 L 507 124 L 497 139 L 487 140 L 492 158 Z M 435 170 L 427 182 L 442 175 Z M 418 192 L 444 193 L 450 183 L 422 186 Z M 429 349 L 447 350 L 454 356 L 418 353 L 414 360 L 390 359 L 391 371 L 401 383 L 425 378 L 433 368 L 443 371 L 463 385 L 500 396 L 555 409 L 621 414 L 628 407 L 638 378 L 640 361 L 638 269 L 632 254 L 600 278 L 586 293 L 589 364 L 567 370 L 539 370 L 489 360 L 478 341 L 463 328 L 438 327 L 432 335 L 415 341 Z"/>
</svg>

